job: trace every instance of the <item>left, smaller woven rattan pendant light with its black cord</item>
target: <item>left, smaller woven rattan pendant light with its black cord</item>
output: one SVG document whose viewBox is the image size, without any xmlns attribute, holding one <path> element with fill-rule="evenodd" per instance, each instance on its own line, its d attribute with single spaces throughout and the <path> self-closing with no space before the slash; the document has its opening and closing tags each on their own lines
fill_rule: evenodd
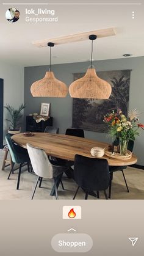
<svg viewBox="0 0 144 256">
<path fill-rule="evenodd" d="M 31 93 L 33 97 L 66 97 L 68 87 L 64 82 L 55 78 L 51 71 L 51 47 L 54 43 L 48 43 L 50 47 L 49 71 L 43 79 L 34 82 L 31 86 Z"/>
</svg>

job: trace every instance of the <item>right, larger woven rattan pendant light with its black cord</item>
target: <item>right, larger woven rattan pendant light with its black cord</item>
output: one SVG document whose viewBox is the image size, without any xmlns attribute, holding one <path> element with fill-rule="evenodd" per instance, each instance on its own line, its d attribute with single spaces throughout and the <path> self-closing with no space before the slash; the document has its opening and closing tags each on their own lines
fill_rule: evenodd
<svg viewBox="0 0 144 256">
<path fill-rule="evenodd" d="M 72 82 L 69 92 L 72 98 L 95 98 L 108 99 L 112 92 L 110 84 L 96 75 L 95 67 L 92 65 L 93 58 L 93 40 L 96 35 L 90 35 L 92 40 L 91 64 L 83 78 Z"/>
</svg>

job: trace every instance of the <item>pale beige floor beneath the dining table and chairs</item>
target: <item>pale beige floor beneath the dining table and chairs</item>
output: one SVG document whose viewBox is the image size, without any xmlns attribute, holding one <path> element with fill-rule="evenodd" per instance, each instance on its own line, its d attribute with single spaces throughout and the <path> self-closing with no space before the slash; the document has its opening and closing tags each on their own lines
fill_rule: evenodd
<svg viewBox="0 0 144 256">
<path fill-rule="evenodd" d="M 4 152 L 0 150 L 0 166 L 2 165 Z M 10 180 L 7 180 L 10 167 L 7 167 L 4 171 L 0 170 L 0 199 L 24 199 L 30 200 L 32 190 L 34 189 L 35 181 L 37 176 L 34 173 L 28 173 L 26 167 L 23 167 L 24 172 L 21 174 L 20 189 L 16 190 L 16 181 L 18 177 L 18 170 L 11 176 Z M 126 191 L 124 184 L 123 175 L 121 172 L 115 172 L 113 175 L 112 183 L 112 199 L 144 199 L 144 170 L 135 169 L 128 167 L 124 170 L 126 180 L 130 192 Z M 63 177 L 63 185 L 59 187 L 59 199 L 73 199 L 74 192 L 76 191 L 77 185 L 72 179 Z M 34 199 L 49 199 L 55 200 L 55 197 L 49 196 L 52 188 L 52 181 L 44 180 L 42 188 L 37 188 Z M 84 192 L 80 189 L 76 199 L 84 199 Z M 92 196 L 88 196 L 88 199 L 95 199 Z M 103 192 L 100 192 L 100 199 L 104 199 Z M 96 199 L 96 200 L 100 200 Z"/>
</svg>

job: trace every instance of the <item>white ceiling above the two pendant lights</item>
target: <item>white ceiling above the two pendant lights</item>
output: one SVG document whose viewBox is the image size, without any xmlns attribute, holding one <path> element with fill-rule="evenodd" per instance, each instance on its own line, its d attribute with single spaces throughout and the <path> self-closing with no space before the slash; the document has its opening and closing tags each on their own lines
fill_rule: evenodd
<svg viewBox="0 0 144 256">
<path fill-rule="evenodd" d="M 90 3 L 89 5 L 74 5 L 72 0 L 53 2 L 59 2 L 59 5 L 10 6 L 1 4 L 1 61 L 24 67 L 47 65 L 49 64 L 49 49 L 46 47 L 37 48 L 37 46 L 32 45 L 32 42 L 108 27 L 115 27 L 117 35 L 95 40 L 93 43 L 94 60 L 120 59 L 124 58 L 123 54 L 126 53 L 132 54 L 131 57 L 144 56 L 144 4 L 126 5 L 126 2 L 138 3 L 137 0 L 91 1 L 91 3 L 105 2 L 107 4 L 120 2 L 125 3 L 124 5 L 90 5 Z M 60 5 L 60 2 L 73 2 L 73 5 Z M 82 2 L 89 1 L 79 1 L 79 3 Z M 10 7 L 20 10 L 20 20 L 16 23 L 10 23 L 5 19 L 5 12 Z M 35 13 L 37 13 L 38 8 L 55 10 L 55 15 L 48 17 L 58 17 L 58 21 L 27 22 L 26 16 L 34 18 L 34 15 L 26 15 L 26 8 L 35 9 Z M 135 15 L 134 19 L 132 19 L 132 12 Z M 46 15 L 40 17 L 46 17 Z M 52 64 L 87 61 L 90 59 L 90 47 L 91 42 L 89 40 L 56 45 L 52 48 Z"/>
</svg>

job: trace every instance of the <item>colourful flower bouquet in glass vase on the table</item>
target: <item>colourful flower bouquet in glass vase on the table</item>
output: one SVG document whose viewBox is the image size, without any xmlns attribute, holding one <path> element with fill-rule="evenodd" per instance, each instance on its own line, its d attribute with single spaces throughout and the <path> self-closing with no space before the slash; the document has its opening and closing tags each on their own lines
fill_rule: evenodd
<svg viewBox="0 0 144 256">
<path fill-rule="evenodd" d="M 109 127 L 110 135 L 119 138 L 122 156 L 127 155 L 129 139 L 134 141 L 135 136 L 139 135 L 137 130 L 139 128 L 144 130 L 144 125 L 139 123 L 137 118 L 139 115 L 140 113 L 136 109 L 128 111 L 128 117 L 121 112 L 121 109 L 118 109 L 117 112 L 113 110 L 110 114 L 104 115 L 104 123 Z"/>
</svg>

